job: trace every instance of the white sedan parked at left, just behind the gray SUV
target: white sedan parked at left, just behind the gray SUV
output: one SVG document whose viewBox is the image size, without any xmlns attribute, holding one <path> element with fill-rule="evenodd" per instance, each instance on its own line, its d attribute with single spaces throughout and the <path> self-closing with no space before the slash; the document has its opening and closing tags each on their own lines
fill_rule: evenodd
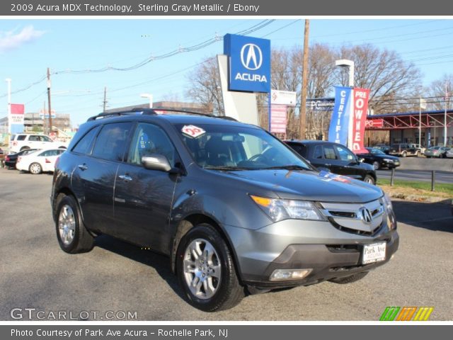
<svg viewBox="0 0 453 340">
<path fill-rule="evenodd" d="M 53 172 L 57 158 L 64 151 L 64 149 L 42 149 L 25 156 L 19 156 L 16 169 L 30 171 L 34 175 L 41 174 L 42 172 Z"/>
</svg>

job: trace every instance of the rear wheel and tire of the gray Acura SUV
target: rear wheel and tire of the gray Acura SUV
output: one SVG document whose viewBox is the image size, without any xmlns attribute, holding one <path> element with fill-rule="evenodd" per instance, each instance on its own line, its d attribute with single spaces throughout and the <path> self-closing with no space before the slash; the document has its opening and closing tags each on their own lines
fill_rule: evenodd
<svg viewBox="0 0 453 340">
<path fill-rule="evenodd" d="M 93 249 L 94 237 L 84 226 L 74 197 L 61 195 L 57 198 L 55 217 L 57 239 L 63 251 L 78 254 Z"/>
</svg>

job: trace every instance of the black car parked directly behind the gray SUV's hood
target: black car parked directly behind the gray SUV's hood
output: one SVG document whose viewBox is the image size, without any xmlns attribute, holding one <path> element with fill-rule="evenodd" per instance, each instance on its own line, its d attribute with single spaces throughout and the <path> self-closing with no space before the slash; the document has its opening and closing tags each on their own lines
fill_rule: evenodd
<svg viewBox="0 0 453 340">
<path fill-rule="evenodd" d="M 373 167 L 360 162 L 344 145 L 322 140 L 287 140 L 285 143 L 319 170 L 376 184 L 377 176 Z"/>
</svg>

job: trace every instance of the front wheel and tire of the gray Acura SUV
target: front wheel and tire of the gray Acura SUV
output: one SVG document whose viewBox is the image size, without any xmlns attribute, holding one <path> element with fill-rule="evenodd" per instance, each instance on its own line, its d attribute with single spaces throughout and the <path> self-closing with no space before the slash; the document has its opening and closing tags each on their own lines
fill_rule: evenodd
<svg viewBox="0 0 453 340">
<path fill-rule="evenodd" d="M 209 224 L 197 225 L 181 239 L 176 271 L 185 297 L 199 310 L 227 310 L 244 296 L 231 251 Z"/>
</svg>

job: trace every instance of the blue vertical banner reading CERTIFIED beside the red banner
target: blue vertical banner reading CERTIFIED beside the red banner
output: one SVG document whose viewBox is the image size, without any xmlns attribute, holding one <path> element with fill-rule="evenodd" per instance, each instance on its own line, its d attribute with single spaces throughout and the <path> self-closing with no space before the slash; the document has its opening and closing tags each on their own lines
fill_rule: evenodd
<svg viewBox="0 0 453 340">
<path fill-rule="evenodd" d="M 348 145 L 350 87 L 335 86 L 335 106 L 328 129 L 328 141 Z"/>
</svg>

